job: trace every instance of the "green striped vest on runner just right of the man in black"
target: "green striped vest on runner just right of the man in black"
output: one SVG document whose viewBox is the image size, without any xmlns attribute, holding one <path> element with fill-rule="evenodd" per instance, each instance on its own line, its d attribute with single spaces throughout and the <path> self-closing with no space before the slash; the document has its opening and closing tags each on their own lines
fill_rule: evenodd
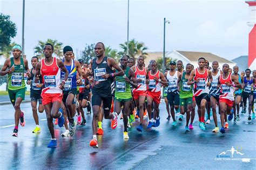
<svg viewBox="0 0 256 170">
<path fill-rule="evenodd" d="M 125 77 L 129 77 L 129 71 L 130 67 L 126 67 L 126 70 L 124 71 L 124 76 L 116 76 L 115 77 L 115 91 L 114 91 L 114 97 L 117 99 L 129 99 L 132 98 L 131 93 L 131 85 L 130 83 L 125 81 Z M 118 72 L 116 70 L 116 72 Z"/>
</svg>

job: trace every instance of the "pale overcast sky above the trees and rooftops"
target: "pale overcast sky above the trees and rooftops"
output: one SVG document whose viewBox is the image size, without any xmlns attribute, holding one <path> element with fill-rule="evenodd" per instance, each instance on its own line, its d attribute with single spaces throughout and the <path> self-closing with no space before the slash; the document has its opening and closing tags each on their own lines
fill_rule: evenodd
<svg viewBox="0 0 256 170">
<path fill-rule="evenodd" d="M 22 42 L 22 0 L 0 0 L 0 11 L 17 25 Z M 129 39 L 144 42 L 149 51 L 212 52 L 227 59 L 248 53 L 248 4 L 245 1 L 130 0 Z M 57 39 L 76 51 L 103 42 L 120 50 L 127 38 L 127 0 L 25 2 L 25 54 L 34 55 L 38 40 Z"/>
</svg>

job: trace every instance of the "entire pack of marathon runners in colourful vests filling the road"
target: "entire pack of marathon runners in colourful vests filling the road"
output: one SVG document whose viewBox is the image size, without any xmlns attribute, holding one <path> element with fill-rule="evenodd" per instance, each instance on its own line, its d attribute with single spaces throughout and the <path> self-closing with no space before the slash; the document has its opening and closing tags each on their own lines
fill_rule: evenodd
<svg viewBox="0 0 256 170">
<path fill-rule="evenodd" d="M 241 113 L 246 113 L 248 99 L 248 120 L 255 118 L 253 112 L 256 70 L 246 69 L 245 75 L 240 75 L 239 67 L 232 69 L 228 64 L 218 69 L 217 61 L 209 62 L 200 57 L 198 67 L 188 63 L 185 68 L 179 60 L 170 62 L 170 69 L 162 73 L 158 70 L 156 60 L 151 60 L 145 66 L 144 57 L 133 58 L 124 55 L 120 64 L 113 58 L 105 56 L 103 43 L 95 45 L 96 57 L 89 64 L 83 59 L 75 60 L 71 46 L 63 49 L 63 59 L 53 57 L 53 46 L 44 45 L 44 58 L 31 58 L 32 68 L 28 60 L 22 58 L 22 47 L 15 45 L 12 56 L 5 60 L 0 72 L 1 76 L 8 74 L 8 93 L 15 108 L 15 127 L 12 135 L 18 137 L 18 124 L 25 125 L 25 112 L 21 110 L 21 102 L 25 98 L 25 83 L 30 85 L 32 114 L 36 127 L 33 133 L 40 133 L 38 112 L 45 111 L 51 141 L 48 147 L 56 147 L 53 119 L 59 127 L 65 127 L 62 137 L 73 136 L 76 126 L 85 125 L 87 114 L 93 113 L 92 140 L 90 146 L 98 147 L 97 134 L 103 134 L 102 121 L 111 119 L 111 128 L 117 127 L 118 115 L 124 123 L 124 139 L 129 139 L 127 128 L 139 118 L 137 131 L 143 131 L 143 120 L 147 113 L 149 121 L 147 128 L 160 125 L 159 104 L 163 87 L 167 119 L 173 119 L 172 126 L 177 125 L 176 112 L 180 112 L 182 121 L 186 113 L 185 131 L 193 129 L 195 107 L 198 107 L 199 127 L 205 130 L 205 124 L 210 124 L 211 110 L 215 128 L 214 133 L 225 133 L 227 121 L 233 119 L 236 124 Z M 211 70 L 210 70 L 211 69 Z M 25 82 L 24 75 L 28 77 Z M 37 103 L 38 109 L 37 109 Z M 220 129 L 217 121 L 217 106 L 220 114 Z M 251 117 L 251 113 L 252 117 Z M 77 113 L 77 121 L 75 115 Z M 207 113 L 205 119 L 205 113 Z M 228 115 L 228 116 L 227 116 Z M 83 120 L 82 120 L 83 118 Z"/>
</svg>

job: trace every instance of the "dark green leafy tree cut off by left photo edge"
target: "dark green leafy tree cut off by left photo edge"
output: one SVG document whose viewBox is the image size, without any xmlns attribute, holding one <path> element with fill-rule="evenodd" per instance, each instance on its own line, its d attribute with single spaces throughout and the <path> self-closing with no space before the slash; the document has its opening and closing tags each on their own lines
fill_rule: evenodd
<svg viewBox="0 0 256 170">
<path fill-rule="evenodd" d="M 11 38 L 14 38 L 16 34 L 17 27 L 14 22 L 10 21 L 10 16 L 0 13 L 0 53 L 10 45 Z"/>
</svg>

